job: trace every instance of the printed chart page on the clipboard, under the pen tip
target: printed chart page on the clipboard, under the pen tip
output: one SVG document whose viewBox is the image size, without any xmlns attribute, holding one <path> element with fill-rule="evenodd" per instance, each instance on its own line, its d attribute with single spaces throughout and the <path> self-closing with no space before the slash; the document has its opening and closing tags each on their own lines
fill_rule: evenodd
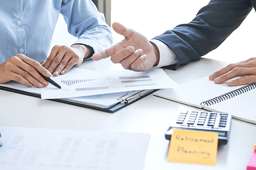
<svg viewBox="0 0 256 170">
<path fill-rule="evenodd" d="M 144 72 L 76 69 L 76 74 L 73 73 L 74 71 L 71 71 L 65 75 L 52 77 L 61 86 L 61 89 L 49 84 L 49 86 L 41 89 L 42 99 L 180 87 L 162 69 L 152 69 Z"/>
</svg>

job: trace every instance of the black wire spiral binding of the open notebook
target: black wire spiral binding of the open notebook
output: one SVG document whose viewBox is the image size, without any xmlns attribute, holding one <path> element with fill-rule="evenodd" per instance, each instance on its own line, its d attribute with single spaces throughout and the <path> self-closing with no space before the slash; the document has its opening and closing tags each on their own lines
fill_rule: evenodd
<svg viewBox="0 0 256 170">
<path fill-rule="evenodd" d="M 256 83 L 251 83 L 251 84 L 248 84 L 248 85 L 243 86 L 241 88 L 237 88 L 236 90 L 227 92 L 226 94 L 214 97 L 213 99 L 205 100 L 205 101 L 201 102 L 201 105 L 203 105 L 203 104 L 205 104 L 207 106 L 213 105 L 215 103 L 219 103 L 221 101 L 228 100 L 228 99 L 230 99 L 232 97 L 235 97 L 237 95 L 241 95 L 241 94 L 243 94 L 247 91 L 253 90 L 255 88 L 256 88 Z"/>
</svg>

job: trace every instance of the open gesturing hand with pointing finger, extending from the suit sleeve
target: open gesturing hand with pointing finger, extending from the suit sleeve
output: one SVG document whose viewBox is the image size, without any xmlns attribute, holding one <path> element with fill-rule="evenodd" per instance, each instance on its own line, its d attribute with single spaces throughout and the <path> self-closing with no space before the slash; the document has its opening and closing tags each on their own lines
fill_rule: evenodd
<svg viewBox="0 0 256 170">
<path fill-rule="evenodd" d="M 146 71 L 159 62 L 159 50 L 145 36 L 122 24 L 113 23 L 115 32 L 125 36 L 125 39 L 108 49 L 95 53 L 92 59 L 98 61 L 111 57 L 113 63 L 121 63 L 123 68 L 134 71 Z"/>
</svg>

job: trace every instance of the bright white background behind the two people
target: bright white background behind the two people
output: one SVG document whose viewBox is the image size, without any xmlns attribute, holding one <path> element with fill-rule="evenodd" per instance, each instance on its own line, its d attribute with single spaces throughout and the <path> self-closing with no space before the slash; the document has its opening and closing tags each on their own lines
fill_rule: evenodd
<svg viewBox="0 0 256 170">
<path fill-rule="evenodd" d="M 148 39 L 172 29 L 178 24 L 190 22 L 207 5 L 205 0 L 112 0 L 112 23 L 119 22 L 126 27 L 143 33 Z M 256 57 L 256 14 L 253 9 L 241 26 L 216 50 L 205 57 L 228 62 L 239 62 Z M 114 44 L 123 37 L 113 31 Z M 68 35 L 67 25 L 60 16 L 53 35 L 52 45 L 71 45 L 76 38 Z"/>
</svg>

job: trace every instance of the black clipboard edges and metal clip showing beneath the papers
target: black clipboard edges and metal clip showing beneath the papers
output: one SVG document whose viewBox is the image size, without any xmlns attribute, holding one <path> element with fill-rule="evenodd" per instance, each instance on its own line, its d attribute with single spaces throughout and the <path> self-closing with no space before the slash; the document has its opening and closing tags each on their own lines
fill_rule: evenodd
<svg viewBox="0 0 256 170">
<path fill-rule="evenodd" d="M 5 87 L 5 86 L 1 86 L 1 85 L 0 85 L 0 90 L 5 90 L 5 91 L 15 92 L 15 93 L 22 94 L 22 95 L 41 98 L 40 94 L 35 94 L 35 93 L 32 93 L 32 92 L 22 91 L 22 90 L 10 88 L 10 87 Z M 117 104 L 115 104 L 115 105 L 113 105 L 112 107 L 109 107 L 109 108 L 100 108 L 100 107 L 92 106 L 92 105 L 89 105 L 89 104 L 83 104 L 83 103 L 79 103 L 79 102 L 76 102 L 76 101 L 73 101 L 73 100 L 68 100 L 68 99 L 47 99 L 47 100 L 57 101 L 59 103 L 76 105 L 78 107 L 94 109 L 94 110 L 102 111 L 102 112 L 114 113 L 114 112 L 117 112 L 117 111 L 127 107 L 130 104 L 133 104 L 134 102 L 136 102 L 140 99 L 143 99 L 144 97 L 154 93 L 157 90 L 158 89 L 143 90 L 141 93 L 136 94 L 135 96 L 128 96 L 126 98 L 123 98 L 121 96 L 121 97 L 119 97 L 120 101 Z"/>
</svg>

